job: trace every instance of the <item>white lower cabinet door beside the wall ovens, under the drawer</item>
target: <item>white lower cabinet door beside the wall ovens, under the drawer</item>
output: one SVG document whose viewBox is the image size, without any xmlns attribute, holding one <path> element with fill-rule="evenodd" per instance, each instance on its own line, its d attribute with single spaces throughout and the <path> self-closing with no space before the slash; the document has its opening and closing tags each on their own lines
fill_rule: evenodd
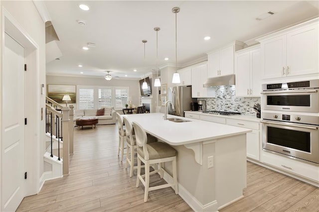
<svg viewBox="0 0 319 212">
<path fill-rule="evenodd" d="M 247 157 L 259 161 L 259 131 L 253 130 L 247 133 Z"/>
</svg>

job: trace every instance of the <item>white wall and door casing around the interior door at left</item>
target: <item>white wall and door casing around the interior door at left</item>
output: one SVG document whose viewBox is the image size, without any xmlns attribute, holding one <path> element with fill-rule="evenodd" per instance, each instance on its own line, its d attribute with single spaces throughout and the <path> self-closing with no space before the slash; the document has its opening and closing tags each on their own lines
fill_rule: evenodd
<svg viewBox="0 0 319 212">
<path fill-rule="evenodd" d="M 43 153 L 45 150 L 43 142 L 45 120 L 40 119 L 41 107 L 45 108 L 45 95 L 40 95 L 40 84 L 45 84 L 45 24 L 31 0 L 0 1 L 0 9 L 0 43 L 2 44 L 2 36 L 4 35 L 3 10 L 5 9 L 32 43 L 31 47 L 24 46 L 25 49 L 34 48 L 27 51 L 25 56 L 25 62 L 30 67 L 25 73 L 25 117 L 28 118 L 25 130 L 26 169 L 28 172 L 26 194 L 32 195 L 39 191 L 39 178 L 43 173 Z M 3 46 L 1 45 L 0 48 L 2 53 Z M 0 82 L 2 80 L 5 79 L 1 79 L 0 75 Z M 1 163 L 3 162 L 7 163 L 7 161 Z"/>
</svg>

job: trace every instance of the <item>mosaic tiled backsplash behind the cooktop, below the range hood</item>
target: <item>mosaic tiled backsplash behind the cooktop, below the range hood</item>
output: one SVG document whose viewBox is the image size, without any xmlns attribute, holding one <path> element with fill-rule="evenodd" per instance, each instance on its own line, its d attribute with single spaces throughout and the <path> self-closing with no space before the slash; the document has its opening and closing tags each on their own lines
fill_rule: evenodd
<svg viewBox="0 0 319 212">
<path fill-rule="evenodd" d="M 259 97 L 236 97 L 235 86 L 220 86 L 215 98 L 200 98 L 206 101 L 206 110 L 241 112 L 244 115 L 256 115 L 254 104 L 260 104 Z"/>
</svg>

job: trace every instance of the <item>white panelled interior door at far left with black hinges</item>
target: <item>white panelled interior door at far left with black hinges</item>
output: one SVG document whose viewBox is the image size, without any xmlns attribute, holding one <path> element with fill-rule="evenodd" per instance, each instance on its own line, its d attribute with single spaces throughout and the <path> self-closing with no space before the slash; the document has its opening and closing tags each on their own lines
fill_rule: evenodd
<svg viewBox="0 0 319 212">
<path fill-rule="evenodd" d="M 25 194 L 24 48 L 7 34 L 4 40 L 0 211 L 15 211 Z"/>
</svg>

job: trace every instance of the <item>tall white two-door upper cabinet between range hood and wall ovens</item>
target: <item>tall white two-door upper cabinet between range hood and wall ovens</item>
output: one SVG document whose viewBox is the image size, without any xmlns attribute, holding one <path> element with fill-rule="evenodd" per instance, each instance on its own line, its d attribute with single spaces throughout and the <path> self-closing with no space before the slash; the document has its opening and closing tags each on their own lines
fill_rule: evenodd
<svg viewBox="0 0 319 212">
<path fill-rule="evenodd" d="M 235 54 L 236 97 L 260 97 L 260 45 L 242 49 Z"/>
</svg>

